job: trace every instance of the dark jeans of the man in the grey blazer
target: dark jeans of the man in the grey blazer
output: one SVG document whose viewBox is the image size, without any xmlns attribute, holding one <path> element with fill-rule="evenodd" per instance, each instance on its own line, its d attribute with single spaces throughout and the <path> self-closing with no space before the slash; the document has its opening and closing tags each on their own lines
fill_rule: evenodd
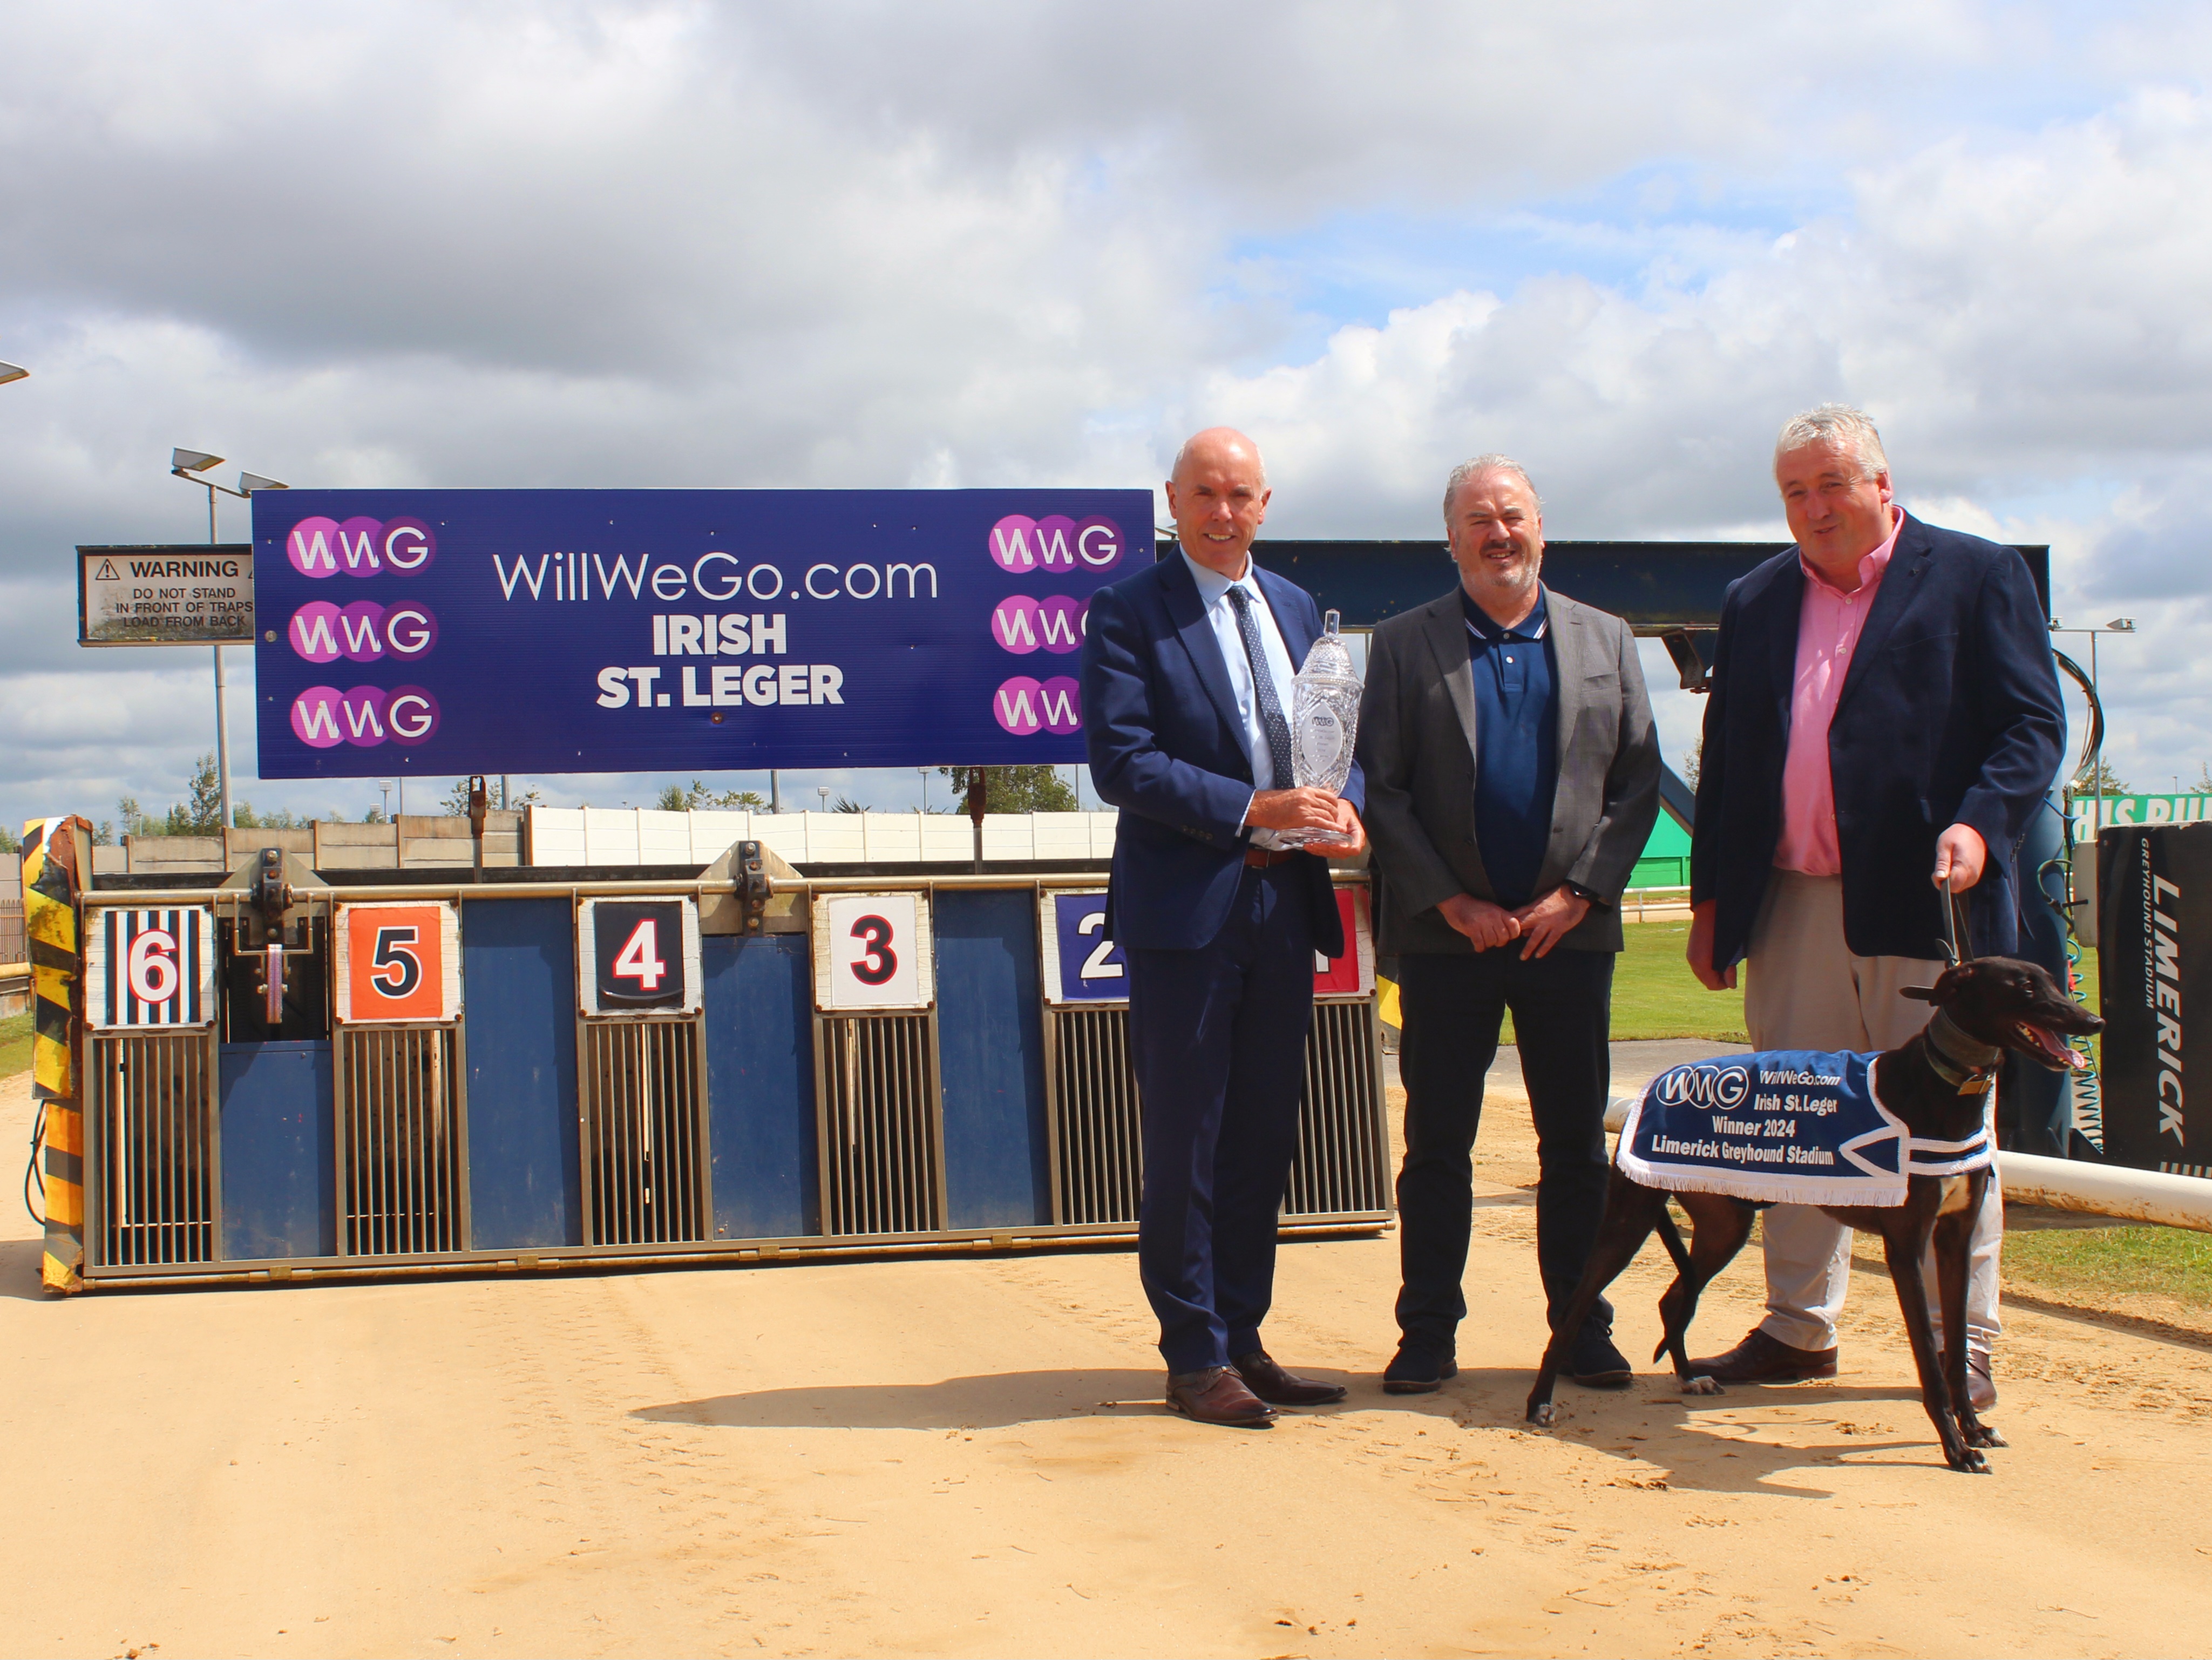
<svg viewBox="0 0 2212 1660">
<path fill-rule="evenodd" d="M 1513 1011 L 1522 1078 L 1535 1116 L 1535 1262 L 1553 1317 L 1575 1295 L 1606 1211 L 1606 1049 L 1613 952 L 1522 961 L 1520 945 L 1471 956 L 1407 954 L 1398 961 L 1405 1011 L 1405 1169 L 1398 1171 L 1398 1328 L 1431 1355 L 1451 1355 L 1467 1317 L 1467 1228 L 1473 1217 L 1473 1149 L 1482 1076 L 1498 1029 Z M 1606 1330 L 1599 1299 L 1584 1330 Z"/>
</svg>

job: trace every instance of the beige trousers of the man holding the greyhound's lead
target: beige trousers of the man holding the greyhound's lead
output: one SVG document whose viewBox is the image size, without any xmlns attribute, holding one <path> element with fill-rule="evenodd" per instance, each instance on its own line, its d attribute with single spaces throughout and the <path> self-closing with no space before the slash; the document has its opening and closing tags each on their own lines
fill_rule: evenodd
<svg viewBox="0 0 2212 1660">
<path fill-rule="evenodd" d="M 1898 996 L 1933 985 L 1942 963 L 1918 956 L 1851 956 L 1843 941 L 1843 876 L 1774 870 L 1752 927 L 1743 969 L 1743 1020 L 1754 1049 L 1896 1049 L 1929 1023 L 1929 1005 Z M 1997 1091 L 1991 1091 L 1995 1133 Z M 1812 1204 L 1776 1204 L 1763 1222 L 1767 1251 L 1767 1337 L 1794 1348 L 1836 1348 L 1836 1317 L 1851 1288 L 1851 1231 Z M 2004 1246 L 2004 1193 L 1991 1173 L 1973 1220 L 1966 1277 L 1966 1346 L 1997 1337 L 1997 1251 Z M 1933 1257 L 1920 1264 L 1942 1339 L 1942 1297 Z"/>
</svg>

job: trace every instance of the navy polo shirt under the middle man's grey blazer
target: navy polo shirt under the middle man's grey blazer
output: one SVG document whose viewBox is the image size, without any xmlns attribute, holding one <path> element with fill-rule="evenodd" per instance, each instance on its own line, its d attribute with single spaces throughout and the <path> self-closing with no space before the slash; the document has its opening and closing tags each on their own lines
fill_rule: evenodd
<svg viewBox="0 0 2212 1660">
<path fill-rule="evenodd" d="M 1467 649 L 1475 671 L 1475 848 L 1491 892 L 1504 907 L 1535 899 L 1551 843 L 1551 795 L 1559 784 L 1559 673 L 1551 651 L 1551 609 L 1537 589 L 1535 611 L 1511 629 L 1460 589 Z"/>
</svg>

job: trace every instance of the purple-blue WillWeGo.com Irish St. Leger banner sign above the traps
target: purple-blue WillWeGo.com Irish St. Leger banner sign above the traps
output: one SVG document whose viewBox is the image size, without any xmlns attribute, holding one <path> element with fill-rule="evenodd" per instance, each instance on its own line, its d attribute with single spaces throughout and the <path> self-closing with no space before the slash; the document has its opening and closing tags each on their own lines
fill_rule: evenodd
<svg viewBox="0 0 2212 1660">
<path fill-rule="evenodd" d="M 1084 759 L 1141 489 L 254 496 L 261 777 Z"/>
</svg>

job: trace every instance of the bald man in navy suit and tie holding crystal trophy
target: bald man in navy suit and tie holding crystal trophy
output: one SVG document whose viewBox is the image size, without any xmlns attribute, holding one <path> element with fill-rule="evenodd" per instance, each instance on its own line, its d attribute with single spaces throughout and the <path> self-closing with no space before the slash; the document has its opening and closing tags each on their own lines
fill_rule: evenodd
<svg viewBox="0 0 2212 1660">
<path fill-rule="evenodd" d="M 1267 496 L 1241 432 L 1190 438 L 1168 480 L 1179 551 L 1095 593 L 1084 635 L 1091 779 L 1121 810 L 1106 932 L 1128 956 L 1144 1111 L 1137 1266 L 1168 1405 L 1252 1428 L 1345 1397 L 1276 1366 L 1259 1328 L 1314 952 L 1345 950 L 1327 857 L 1367 845 L 1356 768 L 1343 797 L 1292 775 L 1292 677 L 1321 613 L 1252 562 Z M 1285 830 L 1327 839 L 1298 850 Z"/>
</svg>

